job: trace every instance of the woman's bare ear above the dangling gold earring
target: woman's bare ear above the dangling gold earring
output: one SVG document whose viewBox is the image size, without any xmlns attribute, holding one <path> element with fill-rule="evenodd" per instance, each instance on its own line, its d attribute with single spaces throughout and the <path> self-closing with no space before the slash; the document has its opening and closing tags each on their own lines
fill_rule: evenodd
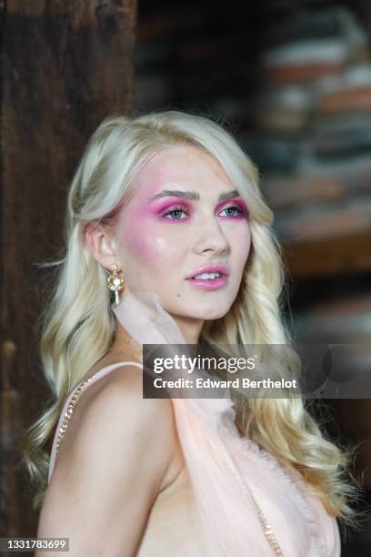
<svg viewBox="0 0 371 557">
<path fill-rule="evenodd" d="M 85 239 L 93 257 L 105 268 L 115 263 L 117 252 L 115 236 L 112 231 L 95 222 L 89 222 L 84 228 Z"/>
</svg>

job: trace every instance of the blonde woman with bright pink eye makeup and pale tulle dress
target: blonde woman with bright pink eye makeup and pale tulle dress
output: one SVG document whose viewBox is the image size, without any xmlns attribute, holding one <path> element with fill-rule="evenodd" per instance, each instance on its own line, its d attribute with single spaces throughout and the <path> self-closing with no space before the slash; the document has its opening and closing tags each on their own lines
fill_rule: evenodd
<svg viewBox="0 0 371 557">
<path fill-rule="evenodd" d="M 37 537 L 74 557 L 340 554 L 348 455 L 300 398 L 142 398 L 142 344 L 289 340 L 256 181 L 202 116 L 111 116 L 90 138 L 41 341 L 55 403 L 28 434 Z"/>
</svg>

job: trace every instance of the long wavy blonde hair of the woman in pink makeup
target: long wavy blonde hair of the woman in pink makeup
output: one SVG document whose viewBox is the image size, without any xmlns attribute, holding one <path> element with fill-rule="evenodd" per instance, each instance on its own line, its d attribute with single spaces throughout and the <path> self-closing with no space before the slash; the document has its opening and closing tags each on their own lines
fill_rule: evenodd
<svg viewBox="0 0 371 557">
<path fill-rule="evenodd" d="M 34 487 L 34 509 L 47 487 L 49 455 L 43 450 L 68 393 L 115 339 L 115 316 L 106 271 L 85 241 L 85 226 L 115 227 L 115 217 L 135 191 L 135 175 L 156 152 L 188 144 L 206 149 L 224 167 L 249 208 L 252 245 L 236 300 L 226 316 L 206 322 L 201 339 L 211 344 L 286 344 L 282 319 L 285 272 L 272 232 L 273 213 L 257 186 L 258 174 L 234 137 L 205 116 L 176 110 L 142 116 L 109 116 L 90 137 L 69 189 L 65 257 L 45 311 L 40 356 L 53 402 L 25 430 L 24 463 Z M 84 285 L 84 288 L 82 288 Z M 356 482 L 346 472 L 351 451 L 326 439 L 301 398 L 236 401 L 236 425 L 246 437 L 296 470 L 326 511 L 355 526 Z"/>
</svg>

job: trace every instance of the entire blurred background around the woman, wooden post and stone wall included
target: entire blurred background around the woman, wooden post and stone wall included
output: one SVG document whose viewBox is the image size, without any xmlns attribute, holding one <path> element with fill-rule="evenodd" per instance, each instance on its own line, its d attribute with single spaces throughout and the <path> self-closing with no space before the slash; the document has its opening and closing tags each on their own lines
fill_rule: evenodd
<svg viewBox="0 0 371 557">
<path fill-rule="evenodd" d="M 370 0 L 7 0 L 0 30 L 0 536 L 35 536 L 19 460 L 48 402 L 35 322 L 54 281 L 36 264 L 60 256 L 66 188 L 110 112 L 191 110 L 236 135 L 275 213 L 290 328 L 359 345 L 368 380 Z M 370 504 L 370 399 L 326 402 Z M 343 557 L 370 554 L 364 528 Z"/>
</svg>

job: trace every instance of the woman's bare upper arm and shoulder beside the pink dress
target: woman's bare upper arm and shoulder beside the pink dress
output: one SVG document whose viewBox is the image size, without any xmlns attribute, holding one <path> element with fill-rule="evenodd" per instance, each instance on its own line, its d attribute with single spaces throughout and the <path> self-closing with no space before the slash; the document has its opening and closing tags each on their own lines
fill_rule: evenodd
<svg viewBox="0 0 371 557">
<path fill-rule="evenodd" d="M 173 455 L 171 401 L 143 400 L 137 368 L 119 371 L 76 405 L 45 493 L 37 537 L 68 537 L 70 557 L 135 555 Z"/>
</svg>

